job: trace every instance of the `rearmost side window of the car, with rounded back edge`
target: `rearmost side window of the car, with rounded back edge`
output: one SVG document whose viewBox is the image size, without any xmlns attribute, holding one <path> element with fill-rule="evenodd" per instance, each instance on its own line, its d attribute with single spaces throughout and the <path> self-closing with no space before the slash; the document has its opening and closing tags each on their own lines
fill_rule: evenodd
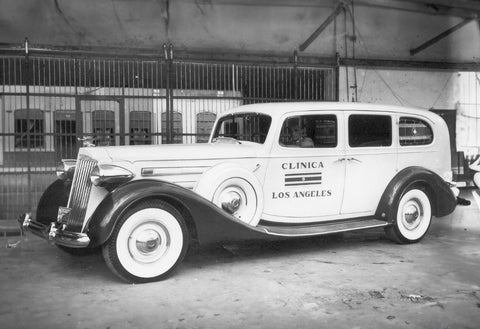
<svg viewBox="0 0 480 329">
<path fill-rule="evenodd" d="M 401 117 L 399 125 L 400 145 L 428 145 L 433 142 L 432 128 L 423 120 Z"/>
</svg>

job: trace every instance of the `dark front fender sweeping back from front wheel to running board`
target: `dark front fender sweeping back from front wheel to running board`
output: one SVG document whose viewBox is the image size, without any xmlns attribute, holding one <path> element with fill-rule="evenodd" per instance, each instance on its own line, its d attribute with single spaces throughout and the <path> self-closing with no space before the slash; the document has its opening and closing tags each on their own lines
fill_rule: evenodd
<svg viewBox="0 0 480 329">
<path fill-rule="evenodd" d="M 184 215 L 190 235 L 199 243 L 266 239 L 269 235 L 240 222 L 193 191 L 168 182 L 137 180 L 114 189 L 100 203 L 87 224 L 87 234 L 96 247 L 111 236 L 125 211 L 145 199 L 159 198 Z"/>
</svg>

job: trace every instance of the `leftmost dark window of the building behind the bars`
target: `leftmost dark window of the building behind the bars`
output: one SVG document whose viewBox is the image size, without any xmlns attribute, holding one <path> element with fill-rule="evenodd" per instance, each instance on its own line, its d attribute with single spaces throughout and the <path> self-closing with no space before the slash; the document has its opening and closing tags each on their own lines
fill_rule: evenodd
<svg viewBox="0 0 480 329">
<path fill-rule="evenodd" d="M 41 148 L 45 146 L 45 119 L 42 110 L 16 110 L 15 118 L 15 148 Z"/>
</svg>

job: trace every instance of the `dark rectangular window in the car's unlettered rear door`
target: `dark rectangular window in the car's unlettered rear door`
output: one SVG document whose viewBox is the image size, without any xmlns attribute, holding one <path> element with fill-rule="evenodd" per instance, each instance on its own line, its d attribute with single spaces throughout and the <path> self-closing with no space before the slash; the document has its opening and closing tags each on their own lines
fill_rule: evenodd
<svg viewBox="0 0 480 329">
<path fill-rule="evenodd" d="M 348 118 L 350 147 L 392 145 L 392 119 L 389 115 L 353 114 Z"/>
</svg>

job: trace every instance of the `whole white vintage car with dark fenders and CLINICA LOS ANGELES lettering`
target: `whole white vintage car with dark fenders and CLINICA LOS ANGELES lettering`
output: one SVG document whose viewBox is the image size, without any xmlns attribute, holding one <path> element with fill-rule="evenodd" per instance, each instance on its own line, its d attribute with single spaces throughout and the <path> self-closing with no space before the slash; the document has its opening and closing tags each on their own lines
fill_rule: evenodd
<svg viewBox="0 0 480 329">
<path fill-rule="evenodd" d="M 23 227 L 101 248 L 129 282 L 167 277 L 192 243 L 379 227 L 414 243 L 456 206 L 443 119 L 360 103 L 241 106 L 208 143 L 83 147 L 57 176 Z"/>
</svg>

